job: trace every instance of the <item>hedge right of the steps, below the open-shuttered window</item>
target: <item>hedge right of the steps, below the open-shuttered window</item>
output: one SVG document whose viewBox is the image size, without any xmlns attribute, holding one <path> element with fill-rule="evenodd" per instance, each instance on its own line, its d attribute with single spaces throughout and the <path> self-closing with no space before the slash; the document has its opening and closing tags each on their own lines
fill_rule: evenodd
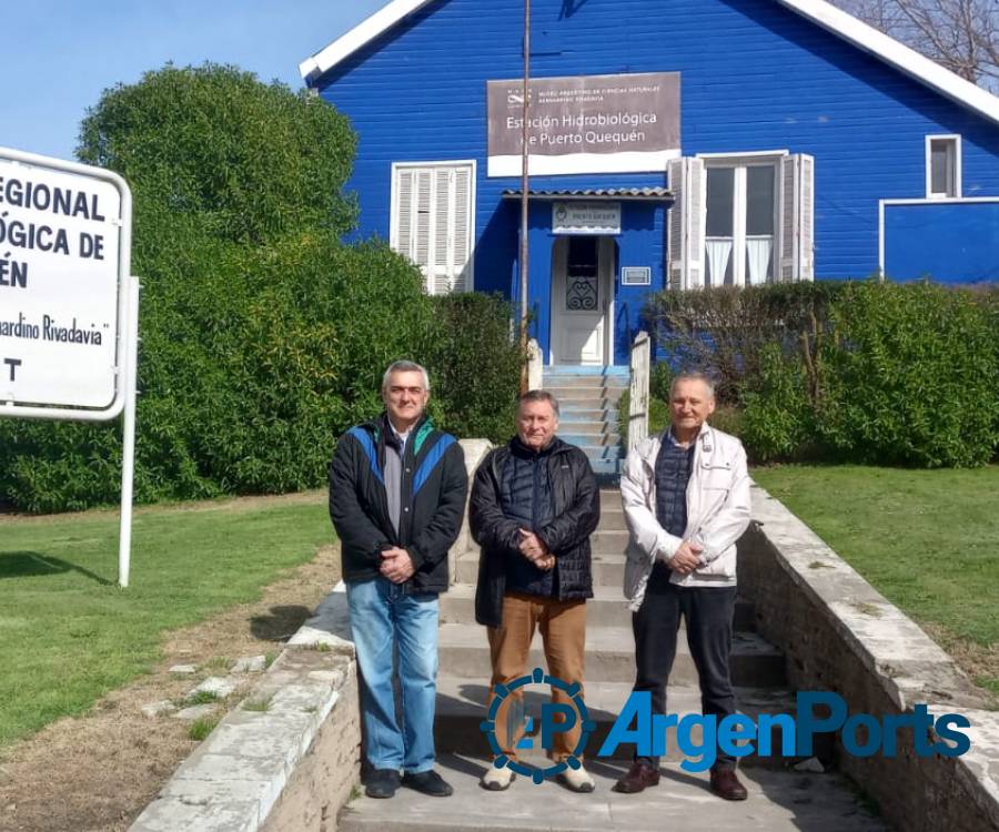
<svg viewBox="0 0 999 832">
<path fill-rule="evenodd" d="M 850 282 L 741 295 L 659 295 L 649 312 L 675 366 L 714 374 L 722 403 L 744 408 L 738 430 L 756 460 L 995 457 L 999 292 Z"/>
</svg>

